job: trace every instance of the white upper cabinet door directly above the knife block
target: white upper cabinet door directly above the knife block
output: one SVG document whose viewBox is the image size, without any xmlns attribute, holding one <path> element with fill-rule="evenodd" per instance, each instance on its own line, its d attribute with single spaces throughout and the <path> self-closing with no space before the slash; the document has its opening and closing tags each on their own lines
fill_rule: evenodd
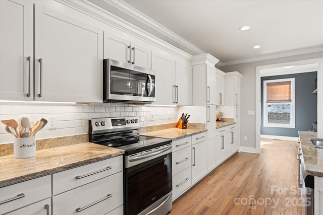
<svg viewBox="0 0 323 215">
<path fill-rule="evenodd" d="M 175 104 L 192 105 L 192 69 L 189 62 L 176 61 L 175 83 Z"/>
</svg>

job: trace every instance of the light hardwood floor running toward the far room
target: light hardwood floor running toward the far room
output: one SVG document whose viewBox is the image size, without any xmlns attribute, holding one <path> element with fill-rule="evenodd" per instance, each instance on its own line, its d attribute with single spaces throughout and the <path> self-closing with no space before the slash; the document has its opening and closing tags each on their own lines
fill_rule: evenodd
<svg viewBox="0 0 323 215">
<path fill-rule="evenodd" d="M 297 142 L 261 142 L 260 154 L 236 153 L 179 197 L 170 214 L 305 214 Z"/>
</svg>

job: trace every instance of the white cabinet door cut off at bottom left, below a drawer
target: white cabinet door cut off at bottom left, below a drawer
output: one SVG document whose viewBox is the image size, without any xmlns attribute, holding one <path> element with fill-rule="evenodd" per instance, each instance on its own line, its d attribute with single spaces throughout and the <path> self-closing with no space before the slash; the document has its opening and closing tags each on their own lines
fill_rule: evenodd
<svg viewBox="0 0 323 215">
<path fill-rule="evenodd" d="M 40 202 L 23 207 L 19 210 L 7 213 L 7 215 L 50 215 L 51 214 L 51 198 L 47 198 Z"/>
</svg>

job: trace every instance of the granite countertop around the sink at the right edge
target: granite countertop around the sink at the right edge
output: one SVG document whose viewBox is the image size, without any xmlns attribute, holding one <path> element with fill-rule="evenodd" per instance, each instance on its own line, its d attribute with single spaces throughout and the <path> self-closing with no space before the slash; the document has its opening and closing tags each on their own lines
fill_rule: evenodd
<svg viewBox="0 0 323 215">
<path fill-rule="evenodd" d="M 298 131 L 304 158 L 305 172 L 308 175 L 323 177 L 323 149 L 316 149 L 311 138 L 323 138 L 322 132 Z"/>
</svg>

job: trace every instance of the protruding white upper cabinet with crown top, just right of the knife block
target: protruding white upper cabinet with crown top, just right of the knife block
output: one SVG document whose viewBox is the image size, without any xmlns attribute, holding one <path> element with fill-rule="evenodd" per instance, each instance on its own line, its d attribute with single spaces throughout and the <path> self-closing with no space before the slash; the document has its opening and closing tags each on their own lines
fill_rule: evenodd
<svg viewBox="0 0 323 215">
<path fill-rule="evenodd" d="M 192 105 L 216 104 L 216 67 L 218 59 L 210 54 L 192 57 L 193 100 Z"/>
</svg>

